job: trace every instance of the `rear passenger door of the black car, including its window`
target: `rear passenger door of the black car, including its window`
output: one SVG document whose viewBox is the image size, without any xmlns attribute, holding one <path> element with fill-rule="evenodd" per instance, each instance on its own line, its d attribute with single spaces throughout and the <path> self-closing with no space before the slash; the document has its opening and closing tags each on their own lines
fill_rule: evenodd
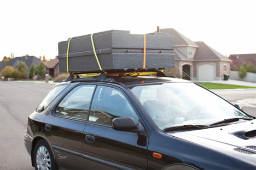
<svg viewBox="0 0 256 170">
<path fill-rule="evenodd" d="M 94 90 L 93 85 L 75 87 L 44 120 L 44 133 L 60 169 L 84 169 L 83 131 Z"/>
</svg>

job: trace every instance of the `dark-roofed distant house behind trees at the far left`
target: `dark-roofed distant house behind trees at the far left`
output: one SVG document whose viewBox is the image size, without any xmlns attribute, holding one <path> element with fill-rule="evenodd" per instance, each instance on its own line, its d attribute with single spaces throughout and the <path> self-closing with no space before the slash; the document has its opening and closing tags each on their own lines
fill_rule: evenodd
<svg viewBox="0 0 256 170">
<path fill-rule="evenodd" d="M 30 68 L 30 65 L 34 63 L 34 65 L 38 66 L 40 63 L 40 59 L 35 56 L 23 56 L 23 57 L 15 57 L 8 62 L 0 62 L 0 75 L 2 75 L 2 70 L 5 66 L 9 65 L 12 66 L 14 69 L 18 69 L 18 65 L 20 62 L 25 62 L 27 68 Z"/>
</svg>

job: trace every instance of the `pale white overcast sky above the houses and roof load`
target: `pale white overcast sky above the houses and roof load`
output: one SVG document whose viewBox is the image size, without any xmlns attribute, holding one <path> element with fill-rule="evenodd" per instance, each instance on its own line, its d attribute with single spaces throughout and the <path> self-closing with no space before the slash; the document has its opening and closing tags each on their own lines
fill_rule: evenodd
<svg viewBox="0 0 256 170">
<path fill-rule="evenodd" d="M 1 0 L 0 60 L 58 55 L 68 38 L 112 29 L 147 34 L 174 28 L 230 54 L 256 53 L 255 0 Z"/>
</svg>

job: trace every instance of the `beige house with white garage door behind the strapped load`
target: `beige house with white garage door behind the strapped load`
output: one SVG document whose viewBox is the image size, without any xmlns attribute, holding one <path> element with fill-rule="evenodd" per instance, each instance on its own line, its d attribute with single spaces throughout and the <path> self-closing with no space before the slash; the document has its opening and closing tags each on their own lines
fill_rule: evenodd
<svg viewBox="0 0 256 170">
<path fill-rule="evenodd" d="M 160 29 L 174 37 L 175 68 L 167 75 L 190 80 L 223 80 L 230 74 L 231 60 L 202 41 L 194 42 L 173 28 Z M 190 78 L 191 77 L 191 78 Z"/>
</svg>

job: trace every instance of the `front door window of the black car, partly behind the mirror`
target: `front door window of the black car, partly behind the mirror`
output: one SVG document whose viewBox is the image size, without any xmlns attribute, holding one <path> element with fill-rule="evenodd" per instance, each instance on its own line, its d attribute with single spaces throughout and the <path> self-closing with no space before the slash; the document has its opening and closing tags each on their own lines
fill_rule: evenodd
<svg viewBox="0 0 256 170">
<path fill-rule="evenodd" d="M 132 117 L 138 122 L 138 116 L 129 100 L 120 90 L 98 86 L 92 100 L 89 121 L 111 125 L 118 117 Z"/>
</svg>

